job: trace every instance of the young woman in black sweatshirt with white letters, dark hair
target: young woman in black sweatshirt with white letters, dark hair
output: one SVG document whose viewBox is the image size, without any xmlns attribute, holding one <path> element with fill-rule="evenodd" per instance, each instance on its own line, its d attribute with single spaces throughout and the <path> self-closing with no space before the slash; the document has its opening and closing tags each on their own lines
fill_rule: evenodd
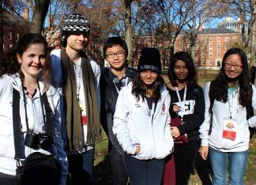
<svg viewBox="0 0 256 185">
<path fill-rule="evenodd" d="M 168 77 L 168 91 L 171 95 L 171 135 L 175 140 L 175 184 L 185 185 L 189 182 L 198 153 L 198 130 L 204 121 L 205 102 L 190 54 L 178 52 L 171 57 Z M 173 172 L 168 173 L 164 172 L 164 178 Z"/>
</svg>

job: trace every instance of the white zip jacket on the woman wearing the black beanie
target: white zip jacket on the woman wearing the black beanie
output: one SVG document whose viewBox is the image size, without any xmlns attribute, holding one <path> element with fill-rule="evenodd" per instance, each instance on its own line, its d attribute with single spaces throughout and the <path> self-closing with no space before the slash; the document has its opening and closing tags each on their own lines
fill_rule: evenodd
<svg viewBox="0 0 256 185">
<path fill-rule="evenodd" d="M 171 154 L 174 145 L 170 129 L 170 95 L 165 87 L 162 88 L 160 100 L 156 105 L 153 103 L 152 113 L 149 113 L 147 101 L 142 98 L 137 101 L 131 90 L 132 83 L 129 83 L 120 91 L 113 132 L 127 154 L 139 160 L 163 159 Z M 141 151 L 134 155 L 137 144 Z"/>
</svg>

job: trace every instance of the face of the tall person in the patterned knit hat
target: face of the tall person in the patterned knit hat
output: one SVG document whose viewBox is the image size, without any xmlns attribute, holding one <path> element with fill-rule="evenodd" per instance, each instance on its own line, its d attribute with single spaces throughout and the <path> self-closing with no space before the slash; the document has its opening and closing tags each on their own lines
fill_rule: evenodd
<svg viewBox="0 0 256 185">
<path fill-rule="evenodd" d="M 66 50 L 83 50 L 88 44 L 88 35 L 74 34 L 69 35 L 66 39 Z"/>
</svg>

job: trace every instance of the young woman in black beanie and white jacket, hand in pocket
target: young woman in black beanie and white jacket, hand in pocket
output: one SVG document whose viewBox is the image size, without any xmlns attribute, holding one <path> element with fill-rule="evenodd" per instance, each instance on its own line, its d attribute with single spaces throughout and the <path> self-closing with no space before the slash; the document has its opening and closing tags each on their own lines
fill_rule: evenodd
<svg viewBox="0 0 256 185">
<path fill-rule="evenodd" d="M 125 152 L 124 163 L 132 185 L 160 184 L 164 157 L 173 147 L 170 96 L 160 68 L 159 50 L 144 48 L 138 73 L 122 88 L 115 107 L 113 132 Z"/>
</svg>

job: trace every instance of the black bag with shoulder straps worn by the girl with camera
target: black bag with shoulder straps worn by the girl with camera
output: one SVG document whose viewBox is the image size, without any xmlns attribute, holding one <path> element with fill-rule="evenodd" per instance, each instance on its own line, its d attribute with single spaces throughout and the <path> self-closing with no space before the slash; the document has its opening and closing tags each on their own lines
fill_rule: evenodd
<svg viewBox="0 0 256 185">
<path fill-rule="evenodd" d="M 42 102 L 46 109 L 46 130 L 47 135 L 53 137 L 53 125 L 51 121 L 51 107 L 47 101 L 46 94 L 43 94 Z M 13 89 L 13 135 L 15 146 L 15 159 L 17 160 L 16 177 L 18 185 L 58 185 L 61 179 L 62 166 L 53 155 L 46 155 L 35 152 L 21 162 L 20 131 L 21 118 L 20 94 Z M 28 135 L 28 134 L 27 134 Z"/>
</svg>

